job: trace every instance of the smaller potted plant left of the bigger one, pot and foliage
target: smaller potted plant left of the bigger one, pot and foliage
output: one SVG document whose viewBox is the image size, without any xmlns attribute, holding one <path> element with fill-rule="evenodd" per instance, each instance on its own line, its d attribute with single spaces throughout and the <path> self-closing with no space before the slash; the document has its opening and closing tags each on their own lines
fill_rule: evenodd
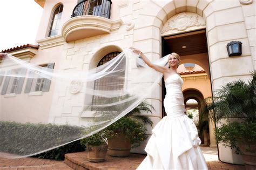
<svg viewBox="0 0 256 170">
<path fill-rule="evenodd" d="M 87 134 L 84 132 L 84 134 Z M 106 158 L 107 144 L 104 131 L 97 132 L 90 137 L 81 139 L 80 143 L 86 146 L 87 160 L 102 162 Z"/>
</svg>

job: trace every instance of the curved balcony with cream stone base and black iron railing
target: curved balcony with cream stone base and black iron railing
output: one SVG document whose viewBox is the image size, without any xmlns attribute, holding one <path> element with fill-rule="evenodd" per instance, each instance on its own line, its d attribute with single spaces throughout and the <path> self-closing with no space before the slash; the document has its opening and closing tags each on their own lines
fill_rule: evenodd
<svg viewBox="0 0 256 170">
<path fill-rule="evenodd" d="M 89 38 L 118 30 L 122 20 L 110 18 L 111 0 L 86 0 L 79 2 L 73 9 L 71 19 L 62 27 L 66 42 Z"/>
</svg>

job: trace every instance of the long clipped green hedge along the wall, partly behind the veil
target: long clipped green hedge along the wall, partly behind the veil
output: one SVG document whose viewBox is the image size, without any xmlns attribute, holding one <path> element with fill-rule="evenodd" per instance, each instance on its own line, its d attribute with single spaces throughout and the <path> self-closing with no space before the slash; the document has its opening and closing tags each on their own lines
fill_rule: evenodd
<svg viewBox="0 0 256 170">
<path fill-rule="evenodd" d="M 82 127 L 70 125 L 22 124 L 0 121 L 0 152 L 18 155 L 34 154 L 75 140 L 82 130 Z M 42 158 L 63 159 L 64 153 L 73 152 L 71 151 L 72 147 L 74 147 L 74 151 L 78 151 L 79 142 L 58 147 L 39 155 Z"/>
</svg>

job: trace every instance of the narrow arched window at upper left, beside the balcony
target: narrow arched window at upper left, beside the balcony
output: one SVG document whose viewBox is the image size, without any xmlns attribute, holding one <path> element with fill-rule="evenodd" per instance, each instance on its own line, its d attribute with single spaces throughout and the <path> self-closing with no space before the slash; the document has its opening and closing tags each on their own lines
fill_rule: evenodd
<svg viewBox="0 0 256 170">
<path fill-rule="evenodd" d="M 63 5 L 57 6 L 53 11 L 51 26 L 49 30 L 48 37 L 55 36 L 58 34 L 60 19 L 62 18 Z"/>
</svg>

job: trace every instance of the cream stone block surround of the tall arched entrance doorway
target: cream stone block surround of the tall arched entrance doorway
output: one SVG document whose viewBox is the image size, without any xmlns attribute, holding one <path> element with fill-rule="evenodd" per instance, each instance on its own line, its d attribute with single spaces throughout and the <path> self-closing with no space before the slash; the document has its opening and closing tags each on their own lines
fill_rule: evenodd
<svg viewBox="0 0 256 170">
<path fill-rule="evenodd" d="M 246 81 L 250 77 L 250 70 L 256 68 L 256 57 L 251 53 L 256 46 L 255 21 L 252 19 L 255 17 L 255 2 L 244 2 L 246 1 L 141 2 L 143 8 L 134 23 L 133 46 L 154 61 L 161 57 L 161 36 L 205 28 L 213 92 L 230 81 Z M 241 56 L 228 57 L 226 44 L 232 40 L 242 42 Z M 232 149 L 222 145 L 219 147 L 221 161 L 242 164 L 241 157 L 235 155 Z"/>
</svg>

